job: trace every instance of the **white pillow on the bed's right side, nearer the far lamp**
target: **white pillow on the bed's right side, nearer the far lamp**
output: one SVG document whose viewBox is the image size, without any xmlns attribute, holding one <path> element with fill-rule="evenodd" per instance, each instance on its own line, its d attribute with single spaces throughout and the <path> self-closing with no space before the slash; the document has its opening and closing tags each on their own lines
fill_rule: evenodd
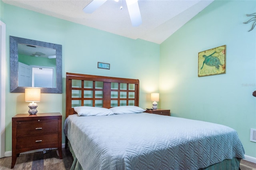
<svg viewBox="0 0 256 170">
<path fill-rule="evenodd" d="M 109 110 L 113 111 L 116 115 L 125 113 L 142 113 L 146 111 L 145 109 L 142 109 L 138 106 L 117 106 L 112 107 Z"/>
</svg>

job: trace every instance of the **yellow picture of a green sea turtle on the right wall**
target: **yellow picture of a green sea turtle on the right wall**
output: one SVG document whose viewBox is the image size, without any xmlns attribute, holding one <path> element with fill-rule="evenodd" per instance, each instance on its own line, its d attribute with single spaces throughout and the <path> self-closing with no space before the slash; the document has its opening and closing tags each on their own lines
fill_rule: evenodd
<svg viewBox="0 0 256 170">
<path fill-rule="evenodd" d="M 226 45 L 198 53 L 198 77 L 226 73 Z"/>
</svg>

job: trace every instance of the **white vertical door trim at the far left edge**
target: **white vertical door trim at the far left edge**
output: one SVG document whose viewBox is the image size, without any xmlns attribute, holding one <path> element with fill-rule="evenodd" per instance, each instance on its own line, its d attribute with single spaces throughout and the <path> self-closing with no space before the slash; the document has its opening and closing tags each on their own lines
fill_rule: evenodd
<svg viewBox="0 0 256 170">
<path fill-rule="evenodd" d="M 0 21 L 0 158 L 5 153 L 6 24 Z"/>
</svg>

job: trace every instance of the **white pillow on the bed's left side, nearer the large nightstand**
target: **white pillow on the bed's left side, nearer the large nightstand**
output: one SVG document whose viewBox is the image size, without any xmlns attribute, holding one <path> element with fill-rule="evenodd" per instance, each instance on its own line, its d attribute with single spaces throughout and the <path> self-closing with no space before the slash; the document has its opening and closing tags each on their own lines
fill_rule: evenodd
<svg viewBox="0 0 256 170">
<path fill-rule="evenodd" d="M 104 116 L 114 115 L 113 111 L 103 107 L 78 106 L 74 110 L 79 116 Z"/>
</svg>

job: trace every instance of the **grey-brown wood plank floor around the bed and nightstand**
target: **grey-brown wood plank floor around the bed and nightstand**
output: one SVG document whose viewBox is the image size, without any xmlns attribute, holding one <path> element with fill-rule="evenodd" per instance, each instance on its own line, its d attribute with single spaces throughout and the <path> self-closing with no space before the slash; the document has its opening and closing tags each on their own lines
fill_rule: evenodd
<svg viewBox="0 0 256 170">
<path fill-rule="evenodd" d="M 73 158 L 69 149 L 62 149 L 63 159 L 59 159 L 56 150 L 21 154 L 13 170 L 70 170 Z M 10 170 L 12 157 L 0 159 L 0 170 Z M 241 160 L 241 170 L 256 170 L 256 164 Z"/>
</svg>

